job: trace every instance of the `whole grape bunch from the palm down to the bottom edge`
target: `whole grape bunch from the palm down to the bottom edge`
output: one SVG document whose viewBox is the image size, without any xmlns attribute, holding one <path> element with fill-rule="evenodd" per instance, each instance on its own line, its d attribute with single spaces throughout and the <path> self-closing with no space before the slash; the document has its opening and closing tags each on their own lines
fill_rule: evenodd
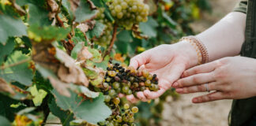
<svg viewBox="0 0 256 126">
<path fill-rule="evenodd" d="M 100 122 L 99 125 L 106 126 L 134 126 L 134 113 L 138 112 L 137 106 L 130 108 L 129 104 L 121 106 L 119 93 L 136 96 L 137 91 L 159 90 L 156 75 L 149 74 L 146 70 L 136 70 L 132 67 L 122 67 L 119 63 L 107 66 L 104 83 L 101 90 L 104 93 L 105 102 L 113 113 L 107 120 Z"/>
</svg>

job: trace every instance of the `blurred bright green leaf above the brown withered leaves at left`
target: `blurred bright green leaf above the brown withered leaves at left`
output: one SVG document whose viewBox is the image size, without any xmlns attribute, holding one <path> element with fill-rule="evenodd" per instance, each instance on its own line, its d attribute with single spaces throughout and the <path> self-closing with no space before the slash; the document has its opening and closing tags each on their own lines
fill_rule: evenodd
<svg viewBox="0 0 256 126">
<path fill-rule="evenodd" d="M 70 33 L 70 28 L 58 28 L 54 26 L 39 27 L 38 25 L 32 25 L 28 28 L 28 37 L 34 39 L 36 42 L 44 41 L 58 41 L 66 39 L 66 36 Z"/>
</svg>

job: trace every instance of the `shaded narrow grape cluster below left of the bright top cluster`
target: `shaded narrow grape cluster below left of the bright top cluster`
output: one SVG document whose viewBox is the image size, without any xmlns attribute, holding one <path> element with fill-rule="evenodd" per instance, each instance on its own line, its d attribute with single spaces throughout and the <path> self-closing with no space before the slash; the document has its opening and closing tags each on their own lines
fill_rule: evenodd
<svg viewBox="0 0 256 126">
<path fill-rule="evenodd" d="M 100 8 L 96 14 L 96 20 L 100 21 L 100 23 L 106 26 L 104 29 L 104 34 L 100 35 L 99 38 L 94 39 L 94 43 L 100 46 L 107 46 L 110 43 L 112 39 L 111 31 L 113 31 L 113 24 L 105 18 L 104 11 L 104 8 Z"/>
</svg>

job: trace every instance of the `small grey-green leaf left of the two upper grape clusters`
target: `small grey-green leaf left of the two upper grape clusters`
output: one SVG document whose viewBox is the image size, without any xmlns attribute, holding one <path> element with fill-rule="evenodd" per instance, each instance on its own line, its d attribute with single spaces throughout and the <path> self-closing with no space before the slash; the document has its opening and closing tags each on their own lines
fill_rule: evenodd
<svg viewBox="0 0 256 126">
<path fill-rule="evenodd" d="M 104 24 L 100 23 L 99 21 L 96 21 L 94 28 L 88 31 L 90 38 L 93 38 L 95 36 L 96 38 L 99 38 L 100 35 L 103 35 L 105 28 L 106 26 Z"/>
</svg>

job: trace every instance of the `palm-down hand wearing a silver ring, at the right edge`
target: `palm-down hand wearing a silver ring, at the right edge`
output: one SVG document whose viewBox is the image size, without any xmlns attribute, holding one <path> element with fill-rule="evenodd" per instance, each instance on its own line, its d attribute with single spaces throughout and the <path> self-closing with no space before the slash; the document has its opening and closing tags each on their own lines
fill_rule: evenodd
<svg viewBox="0 0 256 126">
<path fill-rule="evenodd" d="M 211 102 L 220 99 L 241 99 L 256 96 L 256 60 L 249 57 L 225 57 L 198 65 L 183 73 L 183 78 L 172 87 L 180 94 L 204 92 L 208 95 L 193 98 L 192 102 Z"/>
</svg>

